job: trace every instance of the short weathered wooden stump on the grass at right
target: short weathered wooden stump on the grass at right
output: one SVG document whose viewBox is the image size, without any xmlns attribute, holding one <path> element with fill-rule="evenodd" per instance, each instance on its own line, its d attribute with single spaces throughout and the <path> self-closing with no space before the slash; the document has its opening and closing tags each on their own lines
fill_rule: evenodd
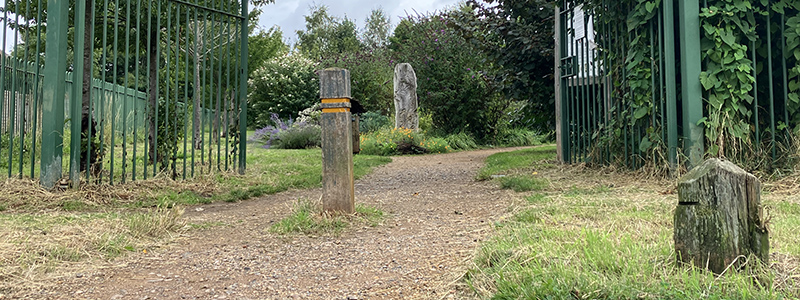
<svg viewBox="0 0 800 300">
<path fill-rule="evenodd" d="M 695 167 L 678 183 L 674 239 L 678 261 L 717 274 L 740 255 L 767 262 L 761 183 L 729 161 L 712 158 Z"/>
</svg>

